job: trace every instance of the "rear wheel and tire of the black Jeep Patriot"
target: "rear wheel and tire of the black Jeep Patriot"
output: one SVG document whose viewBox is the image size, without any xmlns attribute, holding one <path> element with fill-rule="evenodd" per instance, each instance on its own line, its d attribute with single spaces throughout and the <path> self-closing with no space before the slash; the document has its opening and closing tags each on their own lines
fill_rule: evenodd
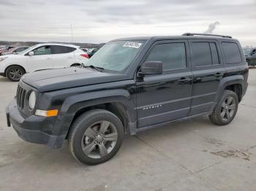
<svg viewBox="0 0 256 191">
<path fill-rule="evenodd" d="M 209 115 L 211 122 L 215 125 L 227 125 L 230 123 L 236 116 L 238 103 L 236 93 L 230 90 L 224 90 L 222 98 L 220 98 L 212 114 Z"/>
</svg>

